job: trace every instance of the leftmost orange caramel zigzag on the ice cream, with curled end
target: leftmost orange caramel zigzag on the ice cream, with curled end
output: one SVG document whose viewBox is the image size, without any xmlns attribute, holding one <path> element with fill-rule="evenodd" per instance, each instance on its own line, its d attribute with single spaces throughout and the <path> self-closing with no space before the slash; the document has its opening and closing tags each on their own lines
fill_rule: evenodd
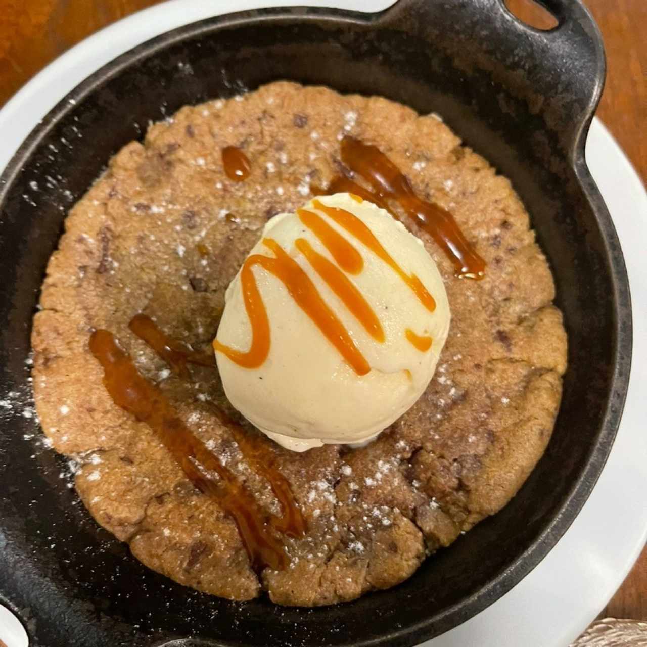
<svg viewBox="0 0 647 647">
<path fill-rule="evenodd" d="M 270 351 L 269 320 L 252 272 L 252 268 L 259 265 L 282 281 L 297 305 L 311 318 L 355 373 L 366 375 L 371 370 L 366 358 L 356 347 L 344 324 L 323 300 L 311 278 L 275 240 L 265 238 L 263 245 L 274 252 L 274 258 L 253 254 L 243 263 L 241 270 L 245 311 L 252 325 L 250 349 L 247 352 L 239 351 L 221 344 L 217 339 L 214 340 L 214 349 L 226 355 L 232 362 L 247 368 L 258 368 L 267 359 Z"/>
</svg>

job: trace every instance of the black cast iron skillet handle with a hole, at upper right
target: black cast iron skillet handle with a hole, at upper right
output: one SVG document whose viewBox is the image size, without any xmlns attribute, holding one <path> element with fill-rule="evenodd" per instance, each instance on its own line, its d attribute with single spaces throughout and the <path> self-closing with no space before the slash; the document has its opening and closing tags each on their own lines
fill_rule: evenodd
<svg viewBox="0 0 647 647">
<path fill-rule="evenodd" d="M 529 102 L 569 146 L 586 131 L 602 94 L 602 36 L 581 0 L 538 1 L 557 27 L 526 25 L 504 0 L 399 0 L 376 19 L 433 43 L 466 78 L 489 74 L 494 85 Z"/>
</svg>

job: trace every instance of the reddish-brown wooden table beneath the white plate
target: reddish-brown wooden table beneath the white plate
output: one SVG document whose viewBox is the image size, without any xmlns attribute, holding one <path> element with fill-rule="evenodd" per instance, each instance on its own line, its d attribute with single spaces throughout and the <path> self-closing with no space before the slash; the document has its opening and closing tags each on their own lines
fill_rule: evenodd
<svg viewBox="0 0 647 647">
<path fill-rule="evenodd" d="M 0 105 L 63 50 L 158 1 L 0 0 Z M 531 24 L 550 26 L 532 0 L 506 1 Z M 608 56 L 598 115 L 647 179 L 647 0 L 584 2 L 598 21 Z M 647 549 L 602 615 L 647 620 Z"/>
</svg>

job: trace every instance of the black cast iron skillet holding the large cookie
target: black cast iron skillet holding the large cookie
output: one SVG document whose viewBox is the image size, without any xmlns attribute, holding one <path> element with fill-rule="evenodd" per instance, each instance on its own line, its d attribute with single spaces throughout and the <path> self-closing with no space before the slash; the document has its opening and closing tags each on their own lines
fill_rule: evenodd
<svg viewBox="0 0 647 647">
<path fill-rule="evenodd" d="M 234 604 L 149 571 L 77 505 L 60 478 L 64 461 L 23 440 L 34 422 L 3 417 L 0 598 L 27 624 L 32 644 L 408 646 L 494 602 L 569 527 L 619 424 L 631 313 L 618 240 L 584 163 L 604 78 L 600 37 L 578 1 L 544 2 L 560 22 L 550 32 L 521 25 L 501 0 L 400 0 L 373 15 L 281 8 L 208 19 L 109 63 L 28 137 L 0 182 L 3 393 L 29 386 L 30 320 L 47 258 L 65 209 L 107 159 L 142 137 L 160 109 L 171 114 L 285 78 L 441 113 L 514 182 L 553 267 L 569 333 L 553 438 L 519 494 L 401 586 L 332 608 Z M 190 63 L 193 74 L 179 63 Z"/>
</svg>

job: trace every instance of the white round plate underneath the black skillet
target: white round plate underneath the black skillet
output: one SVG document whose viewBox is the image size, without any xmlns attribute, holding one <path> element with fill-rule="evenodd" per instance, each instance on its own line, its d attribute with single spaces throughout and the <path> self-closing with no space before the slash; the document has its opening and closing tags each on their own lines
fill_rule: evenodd
<svg viewBox="0 0 647 647">
<path fill-rule="evenodd" d="M 40 72 L 0 111 L 0 169 L 56 102 L 115 56 L 206 17 L 293 4 L 220 0 L 215 10 L 214 0 L 170 0 L 94 34 Z M 373 12 L 392 0 L 299 4 Z M 647 193 L 598 120 L 586 156 L 620 236 L 633 299 L 633 366 L 618 437 L 584 509 L 543 562 L 492 606 L 425 647 L 565 647 L 608 602 L 647 539 L 647 398 L 640 393 L 647 383 Z"/>
</svg>

